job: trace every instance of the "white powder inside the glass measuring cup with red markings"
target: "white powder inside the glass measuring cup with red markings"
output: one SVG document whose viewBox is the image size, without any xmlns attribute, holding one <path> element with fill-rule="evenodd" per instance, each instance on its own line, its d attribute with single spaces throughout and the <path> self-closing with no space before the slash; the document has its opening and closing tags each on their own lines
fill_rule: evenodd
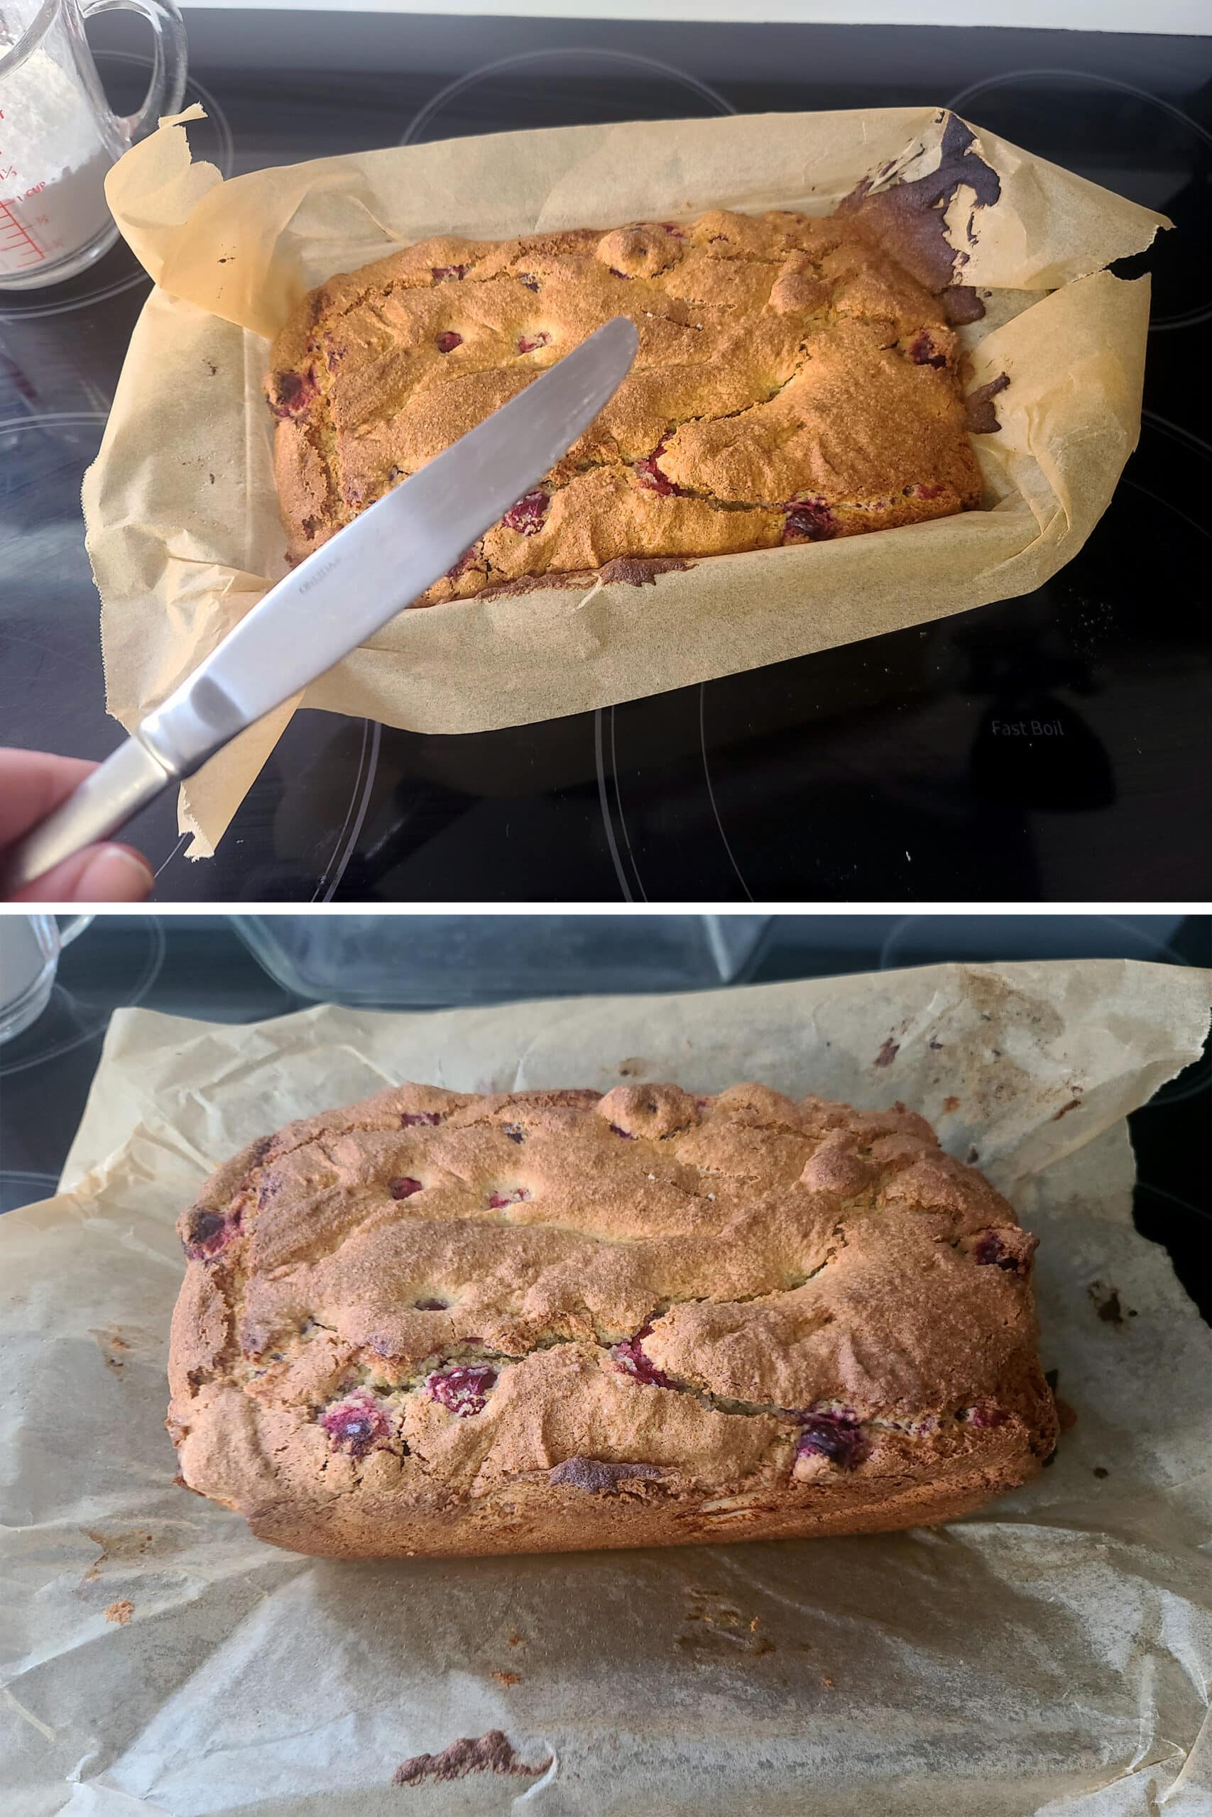
<svg viewBox="0 0 1212 1817">
<path fill-rule="evenodd" d="M 80 78 L 44 45 L 0 93 L 0 274 L 85 245 L 107 222 L 105 173 L 125 145 L 82 105 Z"/>
</svg>

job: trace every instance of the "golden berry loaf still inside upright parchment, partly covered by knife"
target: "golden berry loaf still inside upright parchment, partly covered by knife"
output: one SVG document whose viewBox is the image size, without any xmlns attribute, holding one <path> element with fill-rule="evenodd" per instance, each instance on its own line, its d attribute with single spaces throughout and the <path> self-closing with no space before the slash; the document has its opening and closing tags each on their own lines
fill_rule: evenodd
<svg viewBox="0 0 1212 1817">
<path fill-rule="evenodd" d="M 640 333 L 631 376 L 425 603 L 611 563 L 638 580 L 645 563 L 979 503 L 949 318 L 981 303 L 963 287 L 930 294 L 883 231 L 863 205 L 714 209 L 611 233 L 423 240 L 331 278 L 278 334 L 265 380 L 291 558 L 618 314 Z"/>
</svg>

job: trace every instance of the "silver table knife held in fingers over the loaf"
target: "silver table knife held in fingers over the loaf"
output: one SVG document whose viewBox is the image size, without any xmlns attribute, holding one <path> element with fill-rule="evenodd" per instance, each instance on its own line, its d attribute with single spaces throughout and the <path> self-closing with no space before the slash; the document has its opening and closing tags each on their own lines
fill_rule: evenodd
<svg viewBox="0 0 1212 1817">
<path fill-rule="evenodd" d="M 572 447 L 618 391 L 636 347 L 627 316 L 607 322 L 300 561 L 13 847 L 5 892 L 107 839 L 412 605 Z"/>
</svg>

